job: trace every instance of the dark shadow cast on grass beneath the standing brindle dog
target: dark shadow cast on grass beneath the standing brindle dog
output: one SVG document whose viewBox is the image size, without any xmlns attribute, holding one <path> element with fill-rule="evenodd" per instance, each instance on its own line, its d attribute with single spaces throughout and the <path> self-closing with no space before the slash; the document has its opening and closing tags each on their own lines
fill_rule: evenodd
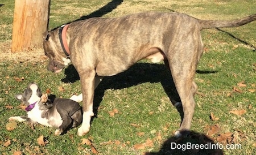
<svg viewBox="0 0 256 155">
<path fill-rule="evenodd" d="M 216 71 L 197 72 L 199 74 L 213 74 Z M 79 80 L 79 74 L 73 65 L 65 68 L 65 75 L 65 79 L 62 79 L 64 83 L 75 83 L 75 81 Z M 101 81 L 94 93 L 94 116 L 97 117 L 97 109 L 100 106 L 106 89 L 123 89 L 142 83 L 161 83 L 173 105 L 180 101 L 171 72 L 164 64 L 136 63 L 129 70 L 114 76 L 105 77 Z M 181 120 L 183 120 L 182 106 L 177 106 L 176 108 L 180 113 Z"/>
</svg>

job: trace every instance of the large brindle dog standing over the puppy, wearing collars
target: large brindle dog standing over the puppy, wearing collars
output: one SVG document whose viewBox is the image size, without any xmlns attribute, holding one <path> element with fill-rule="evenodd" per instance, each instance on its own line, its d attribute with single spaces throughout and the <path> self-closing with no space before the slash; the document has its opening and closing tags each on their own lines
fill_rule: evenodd
<svg viewBox="0 0 256 155">
<path fill-rule="evenodd" d="M 189 130 L 195 108 L 197 85 L 193 81 L 203 54 L 200 31 L 208 28 L 239 27 L 256 20 L 200 20 L 185 14 L 145 12 L 120 18 L 90 18 L 74 21 L 44 34 L 44 52 L 49 70 L 60 72 L 72 62 L 80 76 L 83 120 L 78 135 L 90 130 L 94 89 L 104 76 L 127 70 L 141 59 L 164 61 L 170 68 L 184 117 L 179 130 Z"/>
</svg>

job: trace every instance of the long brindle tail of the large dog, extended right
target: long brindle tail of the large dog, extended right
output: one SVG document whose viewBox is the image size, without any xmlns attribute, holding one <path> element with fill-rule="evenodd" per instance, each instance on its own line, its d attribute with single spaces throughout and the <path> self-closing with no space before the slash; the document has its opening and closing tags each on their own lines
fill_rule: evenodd
<svg viewBox="0 0 256 155">
<path fill-rule="evenodd" d="M 224 28 L 224 27 L 240 27 L 241 25 L 250 23 L 256 20 L 256 14 L 247 16 L 242 19 L 237 20 L 199 20 L 201 24 L 201 29 L 208 28 Z"/>
</svg>

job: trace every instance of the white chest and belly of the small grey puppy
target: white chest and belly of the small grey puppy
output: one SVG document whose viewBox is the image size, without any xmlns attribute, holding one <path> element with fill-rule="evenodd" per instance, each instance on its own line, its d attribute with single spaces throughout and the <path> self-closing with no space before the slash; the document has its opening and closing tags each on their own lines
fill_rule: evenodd
<svg viewBox="0 0 256 155">
<path fill-rule="evenodd" d="M 48 127 L 59 127 L 62 124 L 63 120 L 57 110 L 54 110 L 52 114 L 48 114 L 48 118 L 42 118 L 43 113 L 44 111 L 40 110 L 39 106 L 36 105 L 31 111 L 28 111 L 27 116 L 34 122 Z"/>
</svg>

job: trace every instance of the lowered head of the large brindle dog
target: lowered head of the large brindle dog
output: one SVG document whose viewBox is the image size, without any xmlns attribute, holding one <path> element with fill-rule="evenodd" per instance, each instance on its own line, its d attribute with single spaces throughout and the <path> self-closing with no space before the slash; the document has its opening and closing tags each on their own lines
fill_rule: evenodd
<svg viewBox="0 0 256 155">
<path fill-rule="evenodd" d="M 70 62 L 63 49 L 61 48 L 57 29 L 55 31 L 47 31 L 43 34 L 44 54 L 49 58 L 48 70 L 58 73 L 63 70 Z"/>
</svg>

